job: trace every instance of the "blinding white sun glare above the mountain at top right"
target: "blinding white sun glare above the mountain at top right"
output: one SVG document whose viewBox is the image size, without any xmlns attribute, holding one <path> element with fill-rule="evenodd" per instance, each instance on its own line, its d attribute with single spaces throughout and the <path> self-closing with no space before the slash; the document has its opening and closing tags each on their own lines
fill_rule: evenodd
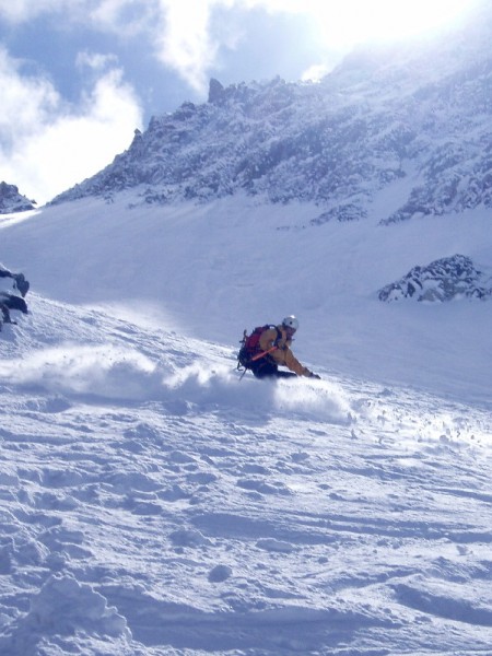
<svg viewBox="0 0 492 656">
<path fill-rule="evenodd" d="M 425 35 L 457 20 L 473 0 L 307 0 L 332 47 Z"/>
</svg>

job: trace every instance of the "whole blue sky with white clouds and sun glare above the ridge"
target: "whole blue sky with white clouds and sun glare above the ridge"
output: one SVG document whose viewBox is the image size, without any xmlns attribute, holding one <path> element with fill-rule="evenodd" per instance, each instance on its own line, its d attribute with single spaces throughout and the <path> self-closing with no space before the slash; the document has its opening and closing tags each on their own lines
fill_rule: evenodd
<svg viewBox="0 0 492 656">
<path fill-rule="evenodd" d="M 44 204 L 152 116 L 224 85 L 313 80 L 367 42 L 413 38 L 473 0 L 0 0 L 0 180 Z"/>
</svg>

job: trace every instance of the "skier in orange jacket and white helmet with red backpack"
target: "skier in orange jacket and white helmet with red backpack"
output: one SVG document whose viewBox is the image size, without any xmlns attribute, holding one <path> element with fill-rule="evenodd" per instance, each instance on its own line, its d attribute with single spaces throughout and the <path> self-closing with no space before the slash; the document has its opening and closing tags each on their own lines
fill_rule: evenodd
<svg viewBox="0 0 492 656">
<path fill-rule="evenodd" d="M 285 317 L 278 326 L 265 326 L 257 347 L 253 352 L 243 355 L 242 364 L 250 368 L 257 378 L 306 376 L 319 379 L 319 376 L 298 362 L 291 350 L 292 338 L 297 328 L 298 321 L 292 315 Z M 247 343 L 245 337 L 244 349 L 246 350 Z M 290 371 L 279 370 L 279 365 L 286 366 Z"/>
</svg>

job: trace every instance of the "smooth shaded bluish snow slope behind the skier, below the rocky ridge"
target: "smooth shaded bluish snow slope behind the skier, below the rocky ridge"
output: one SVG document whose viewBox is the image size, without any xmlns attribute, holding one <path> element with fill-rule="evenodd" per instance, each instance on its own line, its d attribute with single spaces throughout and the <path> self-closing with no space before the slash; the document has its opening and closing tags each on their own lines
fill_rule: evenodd
<svg viewBox="0 0 492 656">
<path fill-rule="evenodd" d="M 90 198 L 7 223 L 2 257 L 51 298 L 122 306 L 233 348 L 245 328 L 296 314 L 295 351 L 315 370 L 487 402 L 492 304 L 393 306 L 377 292 L 456 253 L 492 274 L 490 211 L 379 225 L 402 194 L 383 190 L 364 221 L 323 225 L 311 224 L 319 208 L 308 203 L 235 196 L 130 209 L 131 192 Z"/>
</svg>

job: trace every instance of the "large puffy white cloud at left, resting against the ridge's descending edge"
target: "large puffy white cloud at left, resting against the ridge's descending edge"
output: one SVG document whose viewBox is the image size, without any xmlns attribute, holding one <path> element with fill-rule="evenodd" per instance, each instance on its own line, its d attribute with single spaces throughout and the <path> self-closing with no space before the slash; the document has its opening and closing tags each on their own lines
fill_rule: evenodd
<svg viewBox="0 0 492 656">
<path fill-rule="evenodd" d="M 49 81 L 24 78 L 19 69 L 0 51 L 0 179 L 40 204 L 128 148 L 142 112 L 116 68 L 101 74 L 77 107 Z"/>
</svg>

